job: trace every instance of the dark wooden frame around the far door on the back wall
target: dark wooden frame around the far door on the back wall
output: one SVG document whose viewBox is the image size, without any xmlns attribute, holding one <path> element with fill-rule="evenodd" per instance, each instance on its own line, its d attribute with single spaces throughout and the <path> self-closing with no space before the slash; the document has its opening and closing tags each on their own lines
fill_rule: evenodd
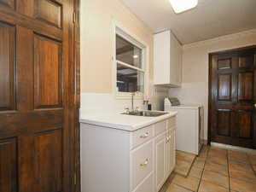
<svg viewBox="0 0 256 192">
<path fill-rule="evenodd" d="M 208 61 L 208 137 L 207 137 L 207 144 L 211 145 L 212 141 L 212 56 L 213 55 L 218 55 L 218 54 L 224 54 L 224 53 L 229 53 L 229 52 L 235 52 L 235 51 L 241 51 L 241 50 L 246 50 L 246 49 L 255 49 L 256 45 L 250 45 L 246 47 L 240 47 L 240 48 L 235 48 L 235 49 L 224 49 L 216 52 L 211 52 L 208 55 L 209 61 Z"/>
</svg>

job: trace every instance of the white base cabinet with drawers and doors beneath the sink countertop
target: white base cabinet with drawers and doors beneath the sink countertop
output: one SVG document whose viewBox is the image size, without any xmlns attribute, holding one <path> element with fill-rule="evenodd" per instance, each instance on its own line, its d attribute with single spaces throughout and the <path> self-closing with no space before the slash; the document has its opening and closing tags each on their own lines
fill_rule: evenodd
<svg viewBox="0 0 256 192">
<path fill-rule="evenodd" d="M 81 123 L 82 192 L 158 192 L 175 166 L 176 117 L 137 131 Z"/>
</svg>

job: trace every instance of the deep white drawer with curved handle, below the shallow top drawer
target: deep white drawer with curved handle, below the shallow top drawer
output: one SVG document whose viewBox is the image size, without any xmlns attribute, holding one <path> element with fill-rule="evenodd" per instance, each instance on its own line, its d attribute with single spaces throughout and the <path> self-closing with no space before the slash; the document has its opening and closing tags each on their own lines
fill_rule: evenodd
<svg viewBox="0 0 256 192">
<path fill-rule="evenodd" d="M 131 152 L 131 188 L 132 190 L 153 172 L 153 142 L 146 143 Z"/>
</svg>

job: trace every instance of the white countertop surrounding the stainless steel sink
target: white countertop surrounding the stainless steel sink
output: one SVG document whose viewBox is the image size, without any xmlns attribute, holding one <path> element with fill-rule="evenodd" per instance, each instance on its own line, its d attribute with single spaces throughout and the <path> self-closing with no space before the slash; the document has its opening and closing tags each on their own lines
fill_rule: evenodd
<svg viewBox="0 0 256 192">
<path fill-rule="evenodd" d="M 168 119 L 177 115 L 177 112 L 166 113 L 167 114 L 161 115 L 159 117 L 141 117 L 121 113 L 110 113 L 104 115 L 86 115 L 82 113 L 80 115 L 80 123 L 100 125 L 125 131 L 136 131 L 137 129 L 143 128 L 144 126 L 152 125 L 161 120 Z"/>
</svg>

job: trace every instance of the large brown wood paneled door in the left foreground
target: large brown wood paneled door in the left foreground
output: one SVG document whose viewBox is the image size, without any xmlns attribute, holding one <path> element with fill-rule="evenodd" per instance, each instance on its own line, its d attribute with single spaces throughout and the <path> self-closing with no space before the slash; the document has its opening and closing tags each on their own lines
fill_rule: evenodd
<svg viewBox="0 0 256 192">
<path fill-rule="evenodd" d="M 0 192 L 71 192 L 74 0 L 0 0 Z"/>
</svg>

